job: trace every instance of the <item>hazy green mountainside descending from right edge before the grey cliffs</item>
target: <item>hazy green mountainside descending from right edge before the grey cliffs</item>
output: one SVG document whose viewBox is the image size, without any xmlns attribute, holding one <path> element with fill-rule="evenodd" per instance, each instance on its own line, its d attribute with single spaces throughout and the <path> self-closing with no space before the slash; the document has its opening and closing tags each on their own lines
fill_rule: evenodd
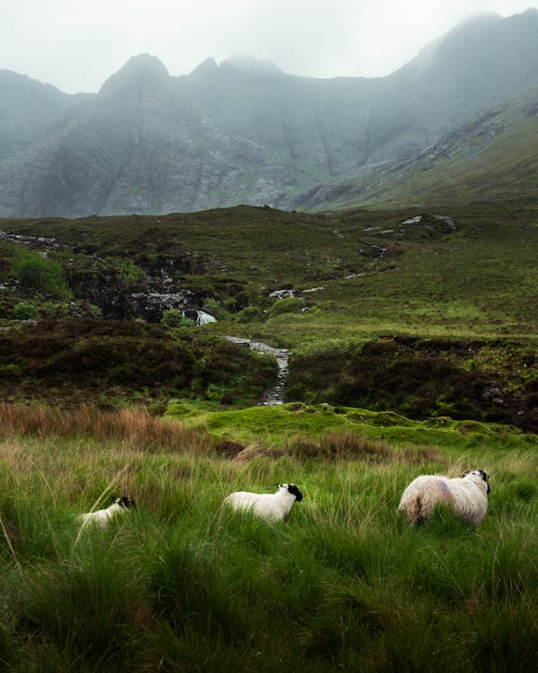
<svg viewBox="0 0 538 673">
<path fill-rule="evenodd" d="M 404 161 L 312 191 L 301 207 L 452 205 L 538 195 L 538 88 L 483 112 Z M 300 201 L 300 199 L 299 199 Z"/>
</svg>

